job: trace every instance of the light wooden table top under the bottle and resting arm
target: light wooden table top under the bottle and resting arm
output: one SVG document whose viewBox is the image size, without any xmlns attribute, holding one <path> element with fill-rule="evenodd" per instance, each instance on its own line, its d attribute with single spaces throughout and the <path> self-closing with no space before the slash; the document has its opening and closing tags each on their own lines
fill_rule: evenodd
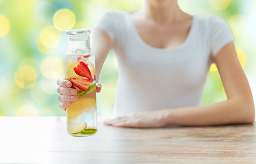
<svg viewBox="0 0 256 164">
<path fill-rule="evenodd" d="M 66 118 L 0 118 L 0 163 L 256 163 L 254 125 L 115 128 L 71 137 Z"/>
</svg>

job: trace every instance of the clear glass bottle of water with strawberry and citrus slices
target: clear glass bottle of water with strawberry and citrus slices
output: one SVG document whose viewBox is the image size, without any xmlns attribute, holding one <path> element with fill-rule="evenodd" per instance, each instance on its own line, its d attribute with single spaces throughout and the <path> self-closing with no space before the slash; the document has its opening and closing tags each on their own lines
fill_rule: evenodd
<svg viewBox="0 0 256 164">
<path fill-rule="evenodd" d="M 77 137 L 97 132 L 95 57 L 90 49 L 90 30 L 71 29 L 64 57 L 65 79 L 77 90 L 78 99 L 66 108 L 68 134 Z"/>
</svg>

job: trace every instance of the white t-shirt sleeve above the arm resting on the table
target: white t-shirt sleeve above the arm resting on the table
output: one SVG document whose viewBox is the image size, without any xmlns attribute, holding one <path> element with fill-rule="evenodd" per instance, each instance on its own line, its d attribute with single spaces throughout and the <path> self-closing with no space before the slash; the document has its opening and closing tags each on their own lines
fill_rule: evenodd
<svg viewBox="0 0 256 164">
<path fill-rule="evenodd" d="M 211 51 L 212 56 L 216 54 L 229 42 L 235 40 L 233 32 L 229 24 L 218 16 L 214 16 L 211 20 Z"/>
</svg>

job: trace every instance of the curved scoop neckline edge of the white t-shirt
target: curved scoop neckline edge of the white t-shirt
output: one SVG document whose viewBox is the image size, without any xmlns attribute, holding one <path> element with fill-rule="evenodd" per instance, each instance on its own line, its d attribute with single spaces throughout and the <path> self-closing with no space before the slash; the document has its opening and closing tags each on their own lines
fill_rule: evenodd
<svg viewBox="0 0 256 164">
<path fill-rule="evenodd" d="M 185 38 L 184 42 L 182 42 L 181 44 L 179 44 L 179 46 L 176 47 L 170 47 L 170 48 L 166 48 L 166 49 L 161 49 L 161 48 L 157 48 L 154 46 L 150 46 L 149 44 L 147 44 L 146 42 L 144 42 L 144 40 L 142 40 L 140 33 L 138 33 L 138 30 L 136 29 L 136 25 L 133 23 L 133 19 L 131 18 L 131 14 L 130 12 L 125 12 L 127 13 L 127 16 L 129 17 L 129 20 L 131 21 L 131 30 L 133 31 L 133 33 L 135 33 L 136 38 L 138 38 L 138 40 L 140 40 L 140 42 L 146 46 L 148 49 L 151 49 L 153 51 L 177 51 L 179 49 L 182 49 L 186 44 L 188 44 L 188 41 L 190 40 L 190 38 L 192 37 L 192 33 L 194 31 L 194 26 L 195 26 L 195 22 L 196 22 L 196 15 L 192 15 L 192 24 L 190 26 L 190 31 L 188 32 L 188 36 L 187 38 Z"/>
</svg>

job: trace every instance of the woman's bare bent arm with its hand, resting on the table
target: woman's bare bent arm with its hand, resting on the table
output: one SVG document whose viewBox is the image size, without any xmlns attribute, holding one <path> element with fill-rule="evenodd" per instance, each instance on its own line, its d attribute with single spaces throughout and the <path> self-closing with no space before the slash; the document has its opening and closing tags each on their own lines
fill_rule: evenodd
<svg viewBox="0 0 256 164">
<path fill-rule="evenodd" d="M 200 107 L 133 113 L 127 117 L 110 120 L 105 124 L 128 127 L 161 127 L 166 124 L 203 126 L 253 123 L 255 121 L 253 96 L 246 75 L 240 66 L 233 42 L 222 48 L 214 60 L 225 88 L 227 100 Z"/>
</svg>

